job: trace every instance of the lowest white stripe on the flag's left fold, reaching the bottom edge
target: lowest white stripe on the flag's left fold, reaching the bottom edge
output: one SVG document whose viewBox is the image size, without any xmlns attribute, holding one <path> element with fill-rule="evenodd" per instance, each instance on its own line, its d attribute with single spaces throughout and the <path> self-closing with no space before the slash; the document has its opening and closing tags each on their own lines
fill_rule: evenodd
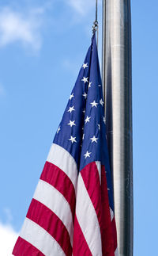
<svg viewBox="0 0 158 256">
<path fill-rule="evenodd" d="M 38 224 L 26 218 L 21 229 L 21 238 L 31 243 L 46 256 L 65 256 L 56 240 Z"/>
</svg>

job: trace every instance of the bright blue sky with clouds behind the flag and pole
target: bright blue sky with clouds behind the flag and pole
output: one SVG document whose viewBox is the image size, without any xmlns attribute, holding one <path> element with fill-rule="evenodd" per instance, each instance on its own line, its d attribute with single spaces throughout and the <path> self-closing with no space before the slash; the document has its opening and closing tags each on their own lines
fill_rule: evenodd
<svg viewBox="0 0 158 256">
<path fill-rule="evenodd" d="M 101 1 L 100 1 L 101 2 Z M 95 1 L 0 3 L 0 244 L 11 254 L 92 36 Z M 157 7 L 132 1 L 134 256 L 156 254 Z M 101 55 L 101 5 L 99 5 Z"/>
</svg>

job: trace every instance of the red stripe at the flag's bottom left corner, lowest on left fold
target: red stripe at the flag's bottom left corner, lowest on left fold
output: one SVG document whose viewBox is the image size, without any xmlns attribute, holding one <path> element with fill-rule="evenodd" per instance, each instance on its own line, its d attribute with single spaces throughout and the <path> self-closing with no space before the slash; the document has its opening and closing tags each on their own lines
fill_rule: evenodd
<svg viewBox="0 0 158 256">
<path fill-rule="evenodd" d="M 15 256 L 44 256 L 44 254 L 38 250 L 35 246 L 32 246 L 31 243 L 28 243 L 26 240 L 22 239 L 20 236 L 17 239 L 17 243 L 13 248 L 13 255 Z"/>
</svg>

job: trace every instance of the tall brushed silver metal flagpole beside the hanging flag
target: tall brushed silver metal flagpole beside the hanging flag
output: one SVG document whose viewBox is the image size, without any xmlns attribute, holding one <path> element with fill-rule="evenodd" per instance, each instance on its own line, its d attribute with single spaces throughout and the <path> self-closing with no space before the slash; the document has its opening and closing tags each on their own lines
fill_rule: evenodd
<svg viewBox="0 0 158 256">
<path fill-rule="evenodd" d="M 133 255 L 130 0 L 103 0 L 103 88 L 119 256 Z"/>
</svg>

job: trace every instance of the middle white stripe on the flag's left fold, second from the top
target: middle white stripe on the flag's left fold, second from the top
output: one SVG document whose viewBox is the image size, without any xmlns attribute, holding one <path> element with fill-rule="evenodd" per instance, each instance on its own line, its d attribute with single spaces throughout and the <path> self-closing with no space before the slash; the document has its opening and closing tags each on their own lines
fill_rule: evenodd
<svg viewBox="0 0 158 256">
<path fill-rule="evenodd" d="M 40 180 L 34 197 L 37 201 L 46 205 L 52 212 L 58 216 L 62 223 L 66 226 L 67 231 L 70 234 L 71 244 L 73 243 L 73 216 L 70 209 L 70 204 L 66 201 L 66 198 L 62 196 L 62 193 L 58 192 L 52 185 L 46 181 Z"/>
</svg>

